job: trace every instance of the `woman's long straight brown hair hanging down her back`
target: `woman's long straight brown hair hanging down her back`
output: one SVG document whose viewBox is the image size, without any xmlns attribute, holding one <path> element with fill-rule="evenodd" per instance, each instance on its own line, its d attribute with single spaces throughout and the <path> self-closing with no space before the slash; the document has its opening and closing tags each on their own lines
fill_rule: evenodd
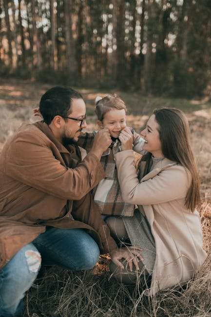
<svg viewBox="0 0 211 317">
<path fill-rule="evenodd" d="M 154 109 L 153 114 L 159 125 L 158 132 L 164 157 L 180 163 L 191 173 L 192 181 L 185 198 L 185 205 L 193 212 L 200 205 L 201 198 L 188 119 L 181 110 L 175 108 Z"/>
</svg>

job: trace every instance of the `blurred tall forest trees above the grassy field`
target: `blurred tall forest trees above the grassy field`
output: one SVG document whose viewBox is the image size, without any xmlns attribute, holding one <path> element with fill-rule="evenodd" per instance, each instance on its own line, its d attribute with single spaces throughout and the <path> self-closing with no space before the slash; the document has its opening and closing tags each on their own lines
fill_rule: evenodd
<svg viewBox="0 0 211 317">
<path fill-rule="evenodd" d="M 0 76 L 159 96 L 208 93 L 210 0 L 0 4 Z"/>
</svg>

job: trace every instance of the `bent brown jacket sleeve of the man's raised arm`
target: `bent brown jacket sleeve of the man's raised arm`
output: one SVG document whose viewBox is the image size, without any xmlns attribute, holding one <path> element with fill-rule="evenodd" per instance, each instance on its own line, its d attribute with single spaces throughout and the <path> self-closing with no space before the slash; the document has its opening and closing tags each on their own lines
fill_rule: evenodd
<svg viewBox="0 0 211 317">
<path fill-rule="evenodd" d="M 82 198 L 105 177 L 94 154 L 88 154 L 76 168 L 69 168 L 55 157 L 51 144 L 32 133 L 19 134 L 7 149 L 5 173 L 49 195 L 70 200 Z"/>
</svg>

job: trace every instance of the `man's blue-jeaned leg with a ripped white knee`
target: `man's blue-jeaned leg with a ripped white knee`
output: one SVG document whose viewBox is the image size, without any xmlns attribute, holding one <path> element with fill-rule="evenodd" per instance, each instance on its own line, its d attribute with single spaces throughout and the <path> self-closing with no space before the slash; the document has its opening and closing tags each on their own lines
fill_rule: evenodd
<svg viewBox="0 0 211 317">
<path fill-rule="evenodd" d="M 25 292 L 38 275 L 41 256 L 29 243 L 0 270 L 0 316 L 18 316 Z"/>
</svg>

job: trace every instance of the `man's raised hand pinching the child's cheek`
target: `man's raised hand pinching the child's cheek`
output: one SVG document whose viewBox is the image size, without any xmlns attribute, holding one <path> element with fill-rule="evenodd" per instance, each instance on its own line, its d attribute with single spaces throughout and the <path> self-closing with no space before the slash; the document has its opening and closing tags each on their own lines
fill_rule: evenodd
<svg viewBox="0 0 211 317">
<path fill-rule="evenodd" d="M 111 142 L 112 139 L 109 129 L 99 130 L 94 138 L 93 146 L 90 153 L 95 154 L 96 157 L 100 159 L 103 152 L 107 150 Z"/>
</svg>

